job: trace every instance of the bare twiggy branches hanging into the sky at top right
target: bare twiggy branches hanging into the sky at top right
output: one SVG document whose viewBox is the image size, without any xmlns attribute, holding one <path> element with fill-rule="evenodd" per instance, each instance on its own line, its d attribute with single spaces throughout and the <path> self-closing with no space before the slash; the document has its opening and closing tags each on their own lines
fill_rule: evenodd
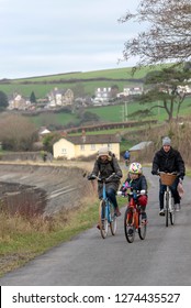
<svg viewBox="0 0 191 308">
<path fill-rule="evenodd" d="M 120 22 L 146 23 L 148 31 L 125 42 L 123 58 L 139 58 L 136 66 L 191 59 L 191 1 L 142 0 L 136 13 L 127 12 Z M 145 29 L 145 26 L 143 28 Z"/>
</svg>

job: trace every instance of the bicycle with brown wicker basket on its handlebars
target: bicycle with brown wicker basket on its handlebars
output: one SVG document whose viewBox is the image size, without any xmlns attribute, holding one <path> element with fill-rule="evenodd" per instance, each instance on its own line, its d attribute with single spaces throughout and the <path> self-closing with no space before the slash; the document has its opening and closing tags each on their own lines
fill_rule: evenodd
<svg viewBox="0 0 191 308">
<path fill-rule="evenodd" d="M 170 186 L 173 184 L 177 174 L 176 173 L 158 173 L 160 176 L 160 182 L 162 185 L 166 185 L 167 188 L 164 194 L 164 210 L 166 217 L 166 227 L 169 226 L 169 220 L 171 224 L 175 224 L 175 201 L 173 196 L 170 190 Z"/>
</svg>

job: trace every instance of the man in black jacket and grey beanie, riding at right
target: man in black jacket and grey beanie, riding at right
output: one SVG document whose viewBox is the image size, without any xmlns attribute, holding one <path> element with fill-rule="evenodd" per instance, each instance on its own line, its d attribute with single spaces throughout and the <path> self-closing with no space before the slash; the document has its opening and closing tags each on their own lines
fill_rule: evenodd
<svg viewBox="0 0 191 308">
<path fill-rule="evenodd" d="M 169 136 L 162 139 L 162 147 L 156 152 L 153 160 L 151 174 L 158 175 L 158 172 L 165 173 L 177 173 L 178 177 L 170 186 L 171 193 L 175 198 L 175 208 L 177 211 L 180 209 L 180 196 L 177 191 L 178 184 L 183 180 L 186 175 L 186 167 L 182 156 L 179 151 L 175 150 L 171 146 L 171 140 Z M 162 185 L 159 180 L 159 206 L 160 206 L 160 216 L 165 216 L 164 211 L 164 194 L 166 190 L 166 185 Z"/>
</svg>

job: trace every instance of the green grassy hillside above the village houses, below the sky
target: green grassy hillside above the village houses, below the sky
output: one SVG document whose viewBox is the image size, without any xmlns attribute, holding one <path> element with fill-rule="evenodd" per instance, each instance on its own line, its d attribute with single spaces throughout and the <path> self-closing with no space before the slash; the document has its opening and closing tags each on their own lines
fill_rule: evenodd
<svg viewBox="0 0 191 308">
<path fill-rule="evenodd" d="M 155 70 L 160 68 L 160 66 L 157 66 Z M 86 95 L 92 96 L 96 88 L 98 87 L 111 87 L 113 85 L 117 85 L 120 91 L 122 91 L 125 86 L 132 84 L 130 79 L 133 78 L 133 84 L 135 85 L 137 79 L 143 78 L 150 70 L 151 69 L 148 67 L 142 68 L 141 70 L 137 70 L 133 77 L 132 68 L 126 67 L 119 69 L 116 68 L 87 73 L 69 73 L 23 79 L 0 80 L 0 90 L 5 92 L 8 96 L 11 96 L 13 92 L 19 92 L 25 97 L 30 97 L 31 92 L 34 91 L 36 98 L 44 98 L 47 92 L 49 92 L 55 87 L 74 89 L 80 85 L 80 87 L 85 89 Z"/>
</svg>

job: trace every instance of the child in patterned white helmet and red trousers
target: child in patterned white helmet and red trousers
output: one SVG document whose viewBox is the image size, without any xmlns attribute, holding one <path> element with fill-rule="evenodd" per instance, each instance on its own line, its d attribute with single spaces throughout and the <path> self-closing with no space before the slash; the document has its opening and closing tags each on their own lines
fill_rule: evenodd
<svg viewBox="0 0 191 308">
<path fill-rule="evenodd" d="M 143 175 L 143 168 L 139 163 L 132 163 L 130 165 L 127 178 L 120 190 L 125 195 L 125 191 L 128 188 L 131 188 L 133 191 L 139 191 L 141 196 L 138 197 L 138 205 L 141 206 L 142 222 L 147 223 L 147 180 Z"/>
</svg>

